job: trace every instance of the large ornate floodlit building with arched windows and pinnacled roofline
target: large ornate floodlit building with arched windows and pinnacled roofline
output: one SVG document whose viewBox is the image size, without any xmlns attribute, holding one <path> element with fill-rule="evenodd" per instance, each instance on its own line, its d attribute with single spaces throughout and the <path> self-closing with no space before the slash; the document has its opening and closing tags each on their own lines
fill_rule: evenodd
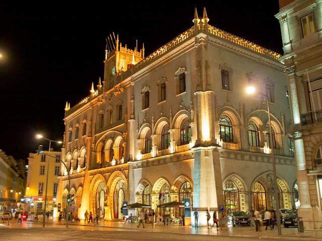
<svg viewBox="0 0 322 241">
<path fill-rule="evenodd" d="M 195 10 L 190 29 L 147 57 L 144 45 L 131 50 L 116 37 L 115 49 L 106 50 L 103 81 L 75 106 L 66 103 L 67 170 L 61 165 L 57 203 L 65 207 L 70 188 L 80 217 L 89 210 L 109 220 L 122 218 L 123 201 L 150 204 L 163 216 L 158 204 L 188 198 L 206 225 L 203 213 L 220 205 L 275 206 L 266 154 L 274 145 L 281 208 L 295 205 L 280 55 L 208 21 L 205 10 L 201 19 Z M 245 91 L 250 84 L 269 96 L 274 133 L 265 98 Z"/>
</svg>

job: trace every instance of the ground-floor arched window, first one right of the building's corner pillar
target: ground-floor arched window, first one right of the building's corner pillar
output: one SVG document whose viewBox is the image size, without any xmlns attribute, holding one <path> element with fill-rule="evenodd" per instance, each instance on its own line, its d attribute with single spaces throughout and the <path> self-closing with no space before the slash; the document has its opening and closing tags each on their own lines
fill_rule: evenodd
<svg viewBox="0 0 322 241">
<path fill-rule="evenodd" d="M 239 192 L 237 186 L 230 180 L 223 186 L 225 208 L 231 211 L 239 211 Z"/>
</svg>

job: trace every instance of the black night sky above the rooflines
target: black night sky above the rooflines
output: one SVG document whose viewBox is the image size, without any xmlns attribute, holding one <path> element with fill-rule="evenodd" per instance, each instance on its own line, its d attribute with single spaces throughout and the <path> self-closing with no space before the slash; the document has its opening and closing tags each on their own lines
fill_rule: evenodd
<svg viewBox="0 0 322 241">
<path fill-rule="evenodd" d="M 278 0 L 110 2 L 0 4 L 0 149 L 7 155 L 27 160 L 39 144 L 47 149 L 37 133 L 62 141 L 65 103 L 73 106 L 103 81 L 113 32 L 130 49 L 144 43 L 146 57 L 193 26 L 194 8 L 201 18 L 206 7 L 209 25 L 282 54 Z"/>
</svg>

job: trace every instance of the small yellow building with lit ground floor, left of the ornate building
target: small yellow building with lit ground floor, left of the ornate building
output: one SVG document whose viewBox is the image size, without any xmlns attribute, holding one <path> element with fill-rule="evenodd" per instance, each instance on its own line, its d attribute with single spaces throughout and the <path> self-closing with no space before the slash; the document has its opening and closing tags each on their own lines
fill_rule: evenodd
<svg viewBox="0 0 322 241">
<path fill-rule="evenodd" d="M 48 151 L 43 153 L 48 154 Z M 61 157 L 61 152 L 51 149 L 50 155 L 56 158 Z M 49 162 L 48 162 L 49 161 Z M 46 210 L 51 211 L 55 207 L 56 194 L 58 190 L 58 176 L 60 175 L 60 161 L 46 156 L 45 154 L 29 153 L 27 187 L 25 194 L 25 210 L 28 212 L 42 213 L 45 202 L 47 168 L 48 186 Z"/>
</svg>

